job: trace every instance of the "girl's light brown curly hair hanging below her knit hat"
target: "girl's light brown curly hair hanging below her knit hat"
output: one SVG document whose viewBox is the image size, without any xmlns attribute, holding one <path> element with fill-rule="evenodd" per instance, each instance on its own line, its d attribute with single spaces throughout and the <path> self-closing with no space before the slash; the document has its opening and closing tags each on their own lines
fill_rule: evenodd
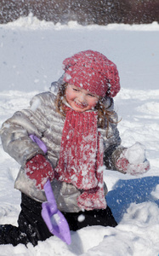
<svg viewBox="0 0 159 256">
<path fill-rule="evenodd" d="M 63 103 L 63 99 L 65 99 L 66 87 L 67 87 L 67 83 L 60 85 L 60 89 L 59 89 L 59 92 L 57 94 L 56 101 L 55 101 L 55 106 L 56 106 L 57 112 L 60 113 L 64 117 L 66 115 L 66 112 L 65 112 L 65 105 Z M 112 120 L 112 116 L 115 114 L 115 112 L 108 110 L 108 108 L 111 108 L 112 102 L 113 101 L 111 99 L 110 105 L 108 107 L 105 107 L 105 97 L 99 96 L 99 101 L 97 102 L 97 104 L 94 108 L 98 111 L 98 126 L 99 126 L 99 128 L 105 129 L 105 119 L 107 121 L 106 137 L 108 137 L 109 123 L 115 123 Z"/>
</svg>

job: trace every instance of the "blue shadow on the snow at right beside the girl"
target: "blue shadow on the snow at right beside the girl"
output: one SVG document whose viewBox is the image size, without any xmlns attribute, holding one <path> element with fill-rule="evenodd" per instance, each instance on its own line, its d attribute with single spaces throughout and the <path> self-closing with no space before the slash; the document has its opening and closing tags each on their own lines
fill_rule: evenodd
<svg viewBox="0 0 159 256">
<path fill-rule="evenodd" d="M 116 218 L 117 223 L 127 212 L 131 203 L 142 203 L 145 201 L 153 201 L 159 206 L 159 200 L 151 195 L 159 184 L 159 177 L 141 177 L 129 180 L 119 180 L 113 190 L 106 195 L 106 201 Z"/>
</svg>

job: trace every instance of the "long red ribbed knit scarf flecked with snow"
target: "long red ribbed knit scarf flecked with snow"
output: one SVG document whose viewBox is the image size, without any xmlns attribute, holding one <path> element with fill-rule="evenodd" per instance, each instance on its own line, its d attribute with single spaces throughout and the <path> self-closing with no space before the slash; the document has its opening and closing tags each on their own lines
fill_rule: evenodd
<svg viewBox="0 0 159 256">
<path fill-rule="evenodd" d="M 97 129 L 97 112 L 66 113 L 55 178 L 82 189 L 78 206 L 86 210 L 105 208 L 103 189 L 103 142 Z"/>
</svg>

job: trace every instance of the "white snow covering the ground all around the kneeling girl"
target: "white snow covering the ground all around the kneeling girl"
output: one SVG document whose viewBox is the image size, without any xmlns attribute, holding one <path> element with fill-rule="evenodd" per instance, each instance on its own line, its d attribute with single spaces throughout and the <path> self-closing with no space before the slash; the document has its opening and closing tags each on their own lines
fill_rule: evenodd
<svg viewBox="0 0 159 256">
<path fill-rule="evenodd" d="M 0 25 L 0 125 L 32 96 L 60 78 L 62 61 L 94 49 L 114 61 L 122 89 L 115 107 L 122 145 L 143 143 L 150 171 L 138 177 L 106 171 L 107 203 L 116 228 L 87 227 L 71 232 L 71 245 L 52 236 L 31 244 L 1 245 L 0 255 L 157 256 L 159 254 L 159 25 L 80 26 L 39 21 L 29 15 Z M 20 191 L 17 164 L 0 142 L 0 224 L 17 225 Z"/>
</svg>

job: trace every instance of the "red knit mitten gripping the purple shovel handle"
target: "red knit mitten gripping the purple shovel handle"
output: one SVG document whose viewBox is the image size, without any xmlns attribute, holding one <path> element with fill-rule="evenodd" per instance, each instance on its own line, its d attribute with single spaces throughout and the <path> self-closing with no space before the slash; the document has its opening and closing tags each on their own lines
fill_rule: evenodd
<svg viewBox="0 0 159 256">
<path fill-rule="evenodd" d="M 36 180 L 37 189 L 43 189 L 43 185 L 54 178 L 54 169 L 43 154 L 37 154 L 26 163 L 26 175 Z"/>
</svg>

